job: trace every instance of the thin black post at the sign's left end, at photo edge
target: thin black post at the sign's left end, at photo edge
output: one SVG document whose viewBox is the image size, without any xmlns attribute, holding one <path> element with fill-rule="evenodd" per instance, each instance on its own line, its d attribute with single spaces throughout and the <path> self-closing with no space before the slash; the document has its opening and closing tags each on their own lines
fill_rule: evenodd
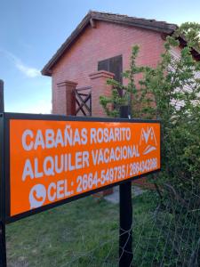
<svg viewBox="0 0 200 267">
<path fill-rule="evenodd" d="M 0 113 L 4 112 L 4 81 L 0 80 Z M 4 223 L 4 190 L 3 190 L 3 175 L 4 175 L 4 122 L 3 117 L 0 117 L 0 267 L 6 267 L 6 245 L 5 245 L 5 223 Z"/>
</svg>

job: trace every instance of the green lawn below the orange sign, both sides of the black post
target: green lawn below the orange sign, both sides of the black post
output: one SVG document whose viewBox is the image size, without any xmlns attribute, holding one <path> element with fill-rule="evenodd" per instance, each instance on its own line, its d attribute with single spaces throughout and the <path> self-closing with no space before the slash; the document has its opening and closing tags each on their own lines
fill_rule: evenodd
<svg viewBox="0 0 200 267">
<path fill-rule="evenodd" d="M 134 266 L 148 266 L 155 201 L 148 192 L 132 201 Z M 9 224 L 8 267 L 117 266 L 118 218 L 118 205 L 87 197 Z"/>
</svg>

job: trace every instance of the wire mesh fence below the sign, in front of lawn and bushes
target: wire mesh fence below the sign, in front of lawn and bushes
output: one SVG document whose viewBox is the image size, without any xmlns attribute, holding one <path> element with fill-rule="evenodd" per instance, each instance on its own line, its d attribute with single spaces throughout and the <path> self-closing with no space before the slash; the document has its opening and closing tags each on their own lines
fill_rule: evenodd
<svg viewBox="0 0 200 267">
<path fill-rule="evenodd" d="M 200 266 L 199 187 L 161 190 L 132 195 L 131 266 Z M 117 266 L 118 219 L 117 204 L 88 197 L 13 223 L 8 266 Z"/>
</svg>

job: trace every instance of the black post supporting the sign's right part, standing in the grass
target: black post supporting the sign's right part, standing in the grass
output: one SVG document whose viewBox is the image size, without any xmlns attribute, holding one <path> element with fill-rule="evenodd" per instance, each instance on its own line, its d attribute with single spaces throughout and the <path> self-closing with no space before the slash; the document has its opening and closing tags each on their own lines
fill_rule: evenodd
<svg viewBox="0 0 200 267">
<path fill-rule="evenodd" d="M 129 117 L 129 107 L 120 109 L 120 117 Z M 132 182 L 119 185 L 119 267 L 132 266 Z"/>
</svg>

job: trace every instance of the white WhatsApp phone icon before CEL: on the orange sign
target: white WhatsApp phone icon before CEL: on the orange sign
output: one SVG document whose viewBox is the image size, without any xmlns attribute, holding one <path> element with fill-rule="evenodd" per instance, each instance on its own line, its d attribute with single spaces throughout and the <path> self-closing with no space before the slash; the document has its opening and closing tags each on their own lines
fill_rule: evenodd
<svg viewBox="0 0 200 267">
<path fill-rule="evenodd" d="M 46 190 L 43 184 L 36 184 L 29 193 L 30 209 L 42 206 L 46 198 Z"/>
</svg>

